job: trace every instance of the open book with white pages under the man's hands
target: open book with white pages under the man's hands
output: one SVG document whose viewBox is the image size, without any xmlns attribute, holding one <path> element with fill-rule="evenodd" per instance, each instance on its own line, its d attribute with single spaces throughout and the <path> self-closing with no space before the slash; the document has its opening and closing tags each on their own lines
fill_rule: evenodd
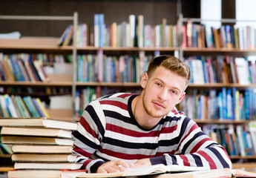
<svg viewBox="0 0 256 178">
<path fill-rule="evenodd" d="M 203 167 L 191 167 L 180 165 L 151 165 L 142 168 L 128 168 L 126 171 L 107 174 L 82 174 L 79 177 L 132 177 L 144 176 L 151 174 L 164 174 L 168 172 L 184 172 L 184 171 L 202 171 L 206 170 Z"/>
</svg>

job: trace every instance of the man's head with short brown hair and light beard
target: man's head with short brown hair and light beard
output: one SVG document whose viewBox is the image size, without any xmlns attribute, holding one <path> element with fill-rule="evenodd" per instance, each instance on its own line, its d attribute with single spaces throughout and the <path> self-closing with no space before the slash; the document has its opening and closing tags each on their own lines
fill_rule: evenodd
<svg viewBox="0 0 256 178">
<path fill-rule="evenodd" d="M 185 96 L 191 74 L 188 65 L 173 56 L 154 58 L 140 82 L 143 127 L 152 127 Z"/>
</svg>

